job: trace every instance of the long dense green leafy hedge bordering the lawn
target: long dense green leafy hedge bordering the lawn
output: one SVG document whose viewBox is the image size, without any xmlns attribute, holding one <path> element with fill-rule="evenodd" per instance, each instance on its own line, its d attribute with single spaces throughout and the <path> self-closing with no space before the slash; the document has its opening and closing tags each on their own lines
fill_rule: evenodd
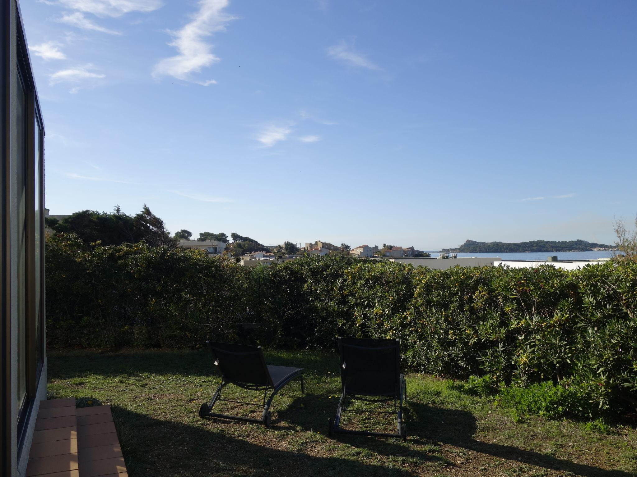
<svg viewBox="0 0 637 477">
<path fill-rule="evenodd" d="M 246 268 L 143 242 L 47 243 L 53 347 L 196 347 L 247 339 L 241 323 L 280 347 L 400 338 L 416 370 L 578 385 L 607 408 L 637 402 L 636 310 L 634 263 L 431 270 L 325 256 Z"/>
</svg>

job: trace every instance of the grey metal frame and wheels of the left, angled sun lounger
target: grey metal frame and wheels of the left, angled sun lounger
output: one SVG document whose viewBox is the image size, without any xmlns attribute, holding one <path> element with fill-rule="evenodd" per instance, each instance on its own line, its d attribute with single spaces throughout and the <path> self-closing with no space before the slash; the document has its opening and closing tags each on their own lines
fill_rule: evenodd
<svg viewBox="0 0 637 477">
<path fill-rule="evenodd" d="M 261 364 L 264 367 L 264 370 L 266 370 L 266 374 L 268 375 L 268 384 L 255 385 L 255 384 L 248 384 L 248 383 L 243 383 L 238 381 L 227 381 L 225 380 L 222 364 L 218 360 L 217 356 L 215 356 L 215 350 L 213 348 L 212 343 L 210 341 L 206 341 L 206 345 L 208 345 L 208 348 L 210 349 L 212 357 L 215 360 L 215 366 L 218 366 L 219 370 L 221 371 L 221 382 L 218 385 L 217 390 L 215 391 L 215 394 L 213 394 L 212 398 L 210 399 L 210 403 L 201 404 L 201 408 L 199 408 L 199 417 L 201 418 L 217 417 L 222 419 L 233 419 L 233 420 L 240 420 L 245 422 L 255 422 L 257 424 L 260 423 L 260 424 L 263 424 L 265 427 L 269 427 L 271 422 L 271 413 L 269 411 L 269 408 L 272 403 L 272 399 L 276 396 L 277 392 L 281 391 L 281 389 L 283 389 L 283 387 L 285 387 L 285 385 L 288 384 L 291 380 L 295 378 L 299 378 L 299 377 L 301 378 L 301 393 L 304 394 L 305 392 L 303 387 L 303 371 L 304 371 L 303 369 L 300 369 L 299 371 L 296 371 L 295 373 L 291 373 L 287 378 L 285 378 L 285 380 L 280 382 L 278 386 L 275 386 L 273 384 L 272 378 L 268 370 L 268 365 L 266 364 L 266 360 L 263 356 L 263 349 L 261 348 L 261 346 L 257 346 L 256 348 L 259 351 L 259 358 L 260 358 Z M 263 391 L 263 404 L 262 404 L 263 413 L 261 415 L 261 419 L 255 419 L 252 417 L 243 417 L 243 416 L 232 416 L 227 414 L 211 412 L 213 406 L 218 401 L 223 401 L 226 403 L 248 404 L 250 406 L 261 406 L 261 404 L 246 403 L 244 401 L 234 401 L 234 399 L 222 399 L 221 390 L 224 389 L 224 387 L 226 387 L 229 384 L 234 384 L 243 389 L 248 389 L 248 391 Z M 272 392 L 270 396 L 268 397 L 268 391 L 270 390 Z"/>
</svg>

